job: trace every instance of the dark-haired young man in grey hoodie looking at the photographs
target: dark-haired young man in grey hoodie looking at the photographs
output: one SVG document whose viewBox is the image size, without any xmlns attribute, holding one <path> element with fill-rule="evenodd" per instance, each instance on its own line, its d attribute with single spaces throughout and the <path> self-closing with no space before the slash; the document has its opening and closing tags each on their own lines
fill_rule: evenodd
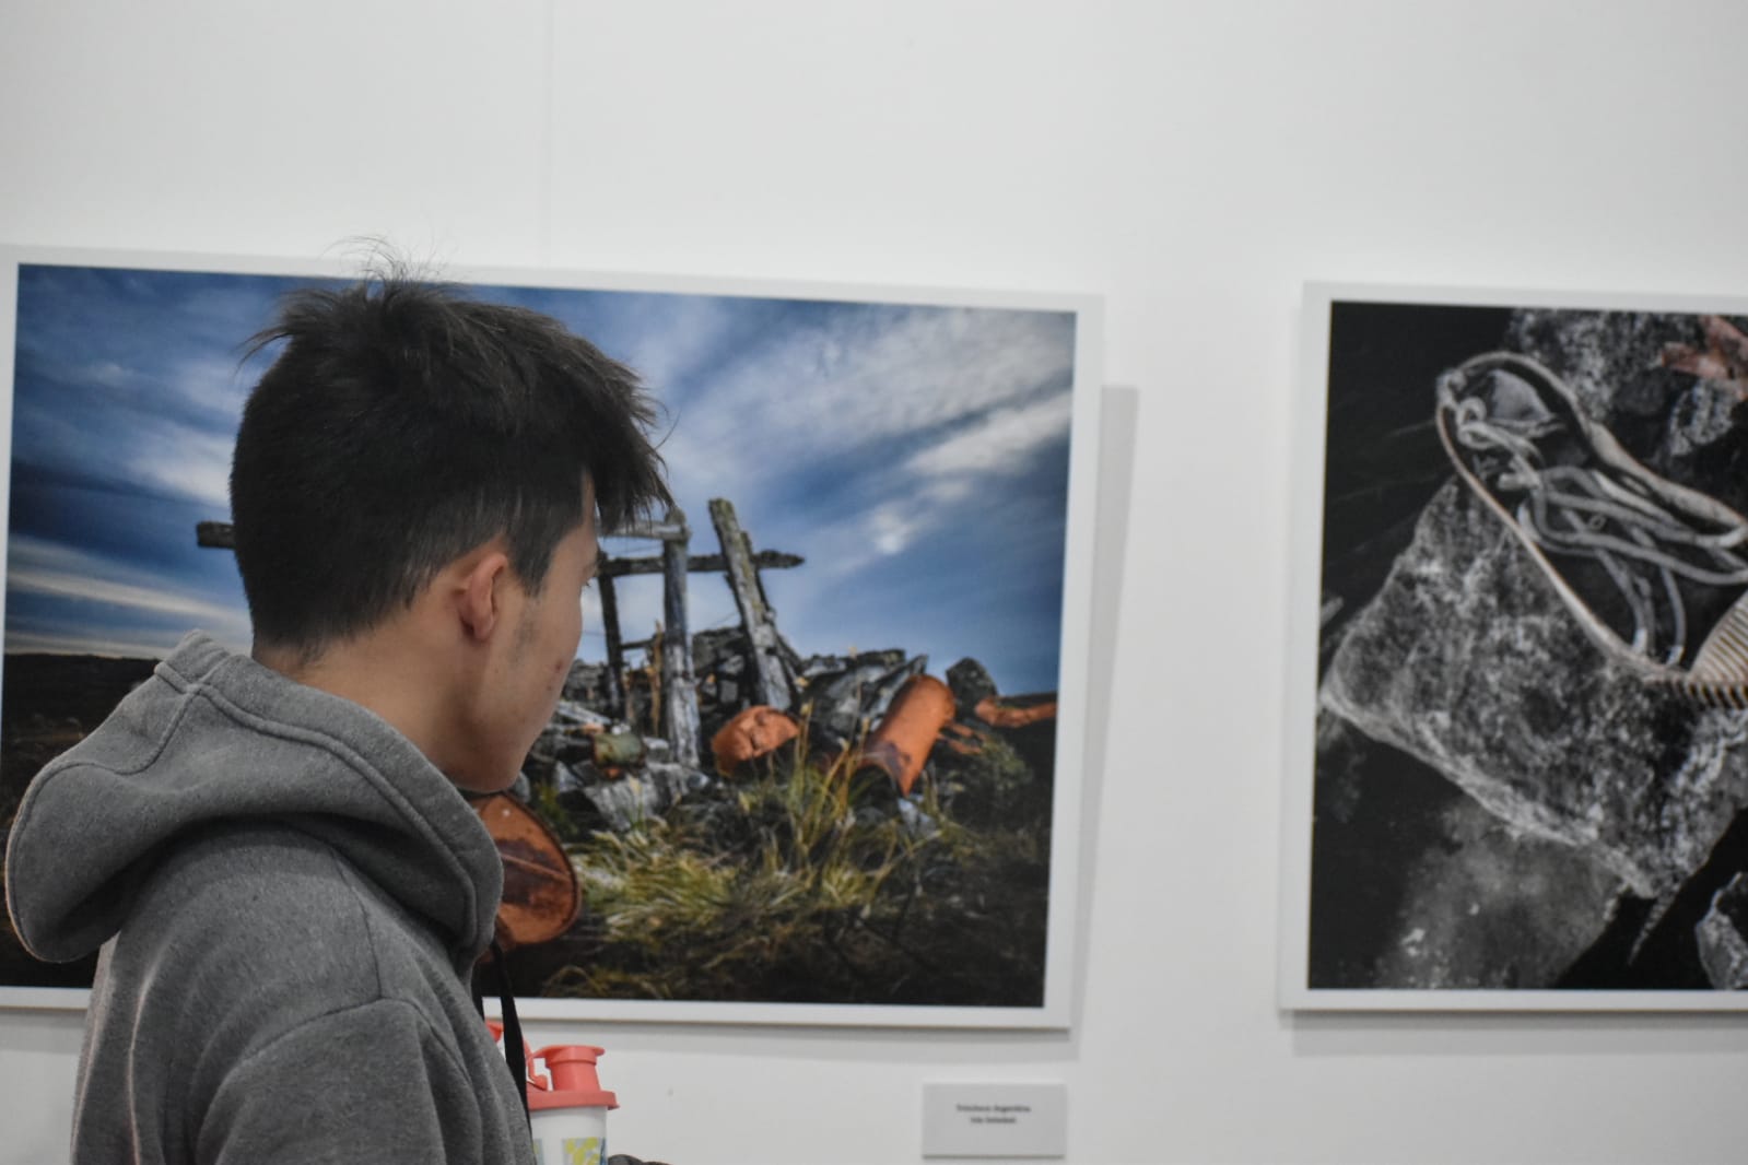
<svg viewBox="0 0 1748 1165">
<path fill-rule="evenodd" d="M 31 782 L 9 908 L 101 945 L 77 1165 L 531 1162 L 470 994 L 600 527 L 668 501 L 635 374 L 402 278 L 304 292 L 231 470 L 252 657 L 199 632 Z M 600 527 L 598 527 L 600 522 Z"/>
</svg>

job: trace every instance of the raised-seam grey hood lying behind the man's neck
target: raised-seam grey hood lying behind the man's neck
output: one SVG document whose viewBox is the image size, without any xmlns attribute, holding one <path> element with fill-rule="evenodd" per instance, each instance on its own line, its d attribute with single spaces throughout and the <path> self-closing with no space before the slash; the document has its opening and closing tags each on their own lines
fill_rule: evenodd
<svg viewBox="0 0 1748 1165">
<path fill-rule="evenodd" d="M 374 713 L 199 632 L 26 789 L 5 854 L 19 938 L 84 957 L 166 845 L 262 819 L 339 849 L 432 920 L 458 969 L 491 941 L 503 863 L 454 784 Z"/>
</svg>

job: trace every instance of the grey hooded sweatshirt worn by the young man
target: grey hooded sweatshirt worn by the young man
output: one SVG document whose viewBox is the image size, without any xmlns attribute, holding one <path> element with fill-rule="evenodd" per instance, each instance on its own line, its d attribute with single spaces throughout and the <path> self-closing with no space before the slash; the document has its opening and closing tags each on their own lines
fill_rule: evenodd
<svg viewBox="0 0 1748 1165">
<path fill-rule="evenodd" d="M 339 697 L 189 636 L 44 769 L 7 845 L 24 945 L 101 945 L 73 1162 L 531 1162 L 474 1010 L 503 866 Z"/>
</svg>

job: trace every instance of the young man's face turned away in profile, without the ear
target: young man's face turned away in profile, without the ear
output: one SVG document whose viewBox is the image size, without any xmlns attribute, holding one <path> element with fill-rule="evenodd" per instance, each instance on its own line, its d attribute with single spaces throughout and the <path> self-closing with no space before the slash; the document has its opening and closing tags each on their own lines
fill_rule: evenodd
<svg viewBox="0 0 1748 1165">
<path fill-rule="evenodd" d="M 594 538 L 594 505 L 586 507 L 582 524 L 570 531 L 552 552 L 545 582 L 538 594 L 528 594 L 519 580 L 509 580 L 505 643 L 489 669 L 488 690 L 481 693 L 479 732 L 486 734 L 489 772 L 465 774 L 456 784 L 475 793 L 509 788 L 535 737 L 552 720 L 565 688 L 577 643 L 582 639 L 582 590 L 594 578 L 600 545 Z M 451 774 L 456 777 L 456 774 Z"/>
</svg>

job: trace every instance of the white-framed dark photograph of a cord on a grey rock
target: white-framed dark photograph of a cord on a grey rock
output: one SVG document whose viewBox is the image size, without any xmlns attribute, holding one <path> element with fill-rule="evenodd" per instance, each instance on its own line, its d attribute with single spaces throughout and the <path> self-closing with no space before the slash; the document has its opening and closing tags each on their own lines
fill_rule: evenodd
<svg viewBox="0 0 1748 1165">
<path fill-rule="evenodd" d="M 1748 1006 L 1748 300 L 1302 341 L 1283 1006 Z"/>
</svg>

